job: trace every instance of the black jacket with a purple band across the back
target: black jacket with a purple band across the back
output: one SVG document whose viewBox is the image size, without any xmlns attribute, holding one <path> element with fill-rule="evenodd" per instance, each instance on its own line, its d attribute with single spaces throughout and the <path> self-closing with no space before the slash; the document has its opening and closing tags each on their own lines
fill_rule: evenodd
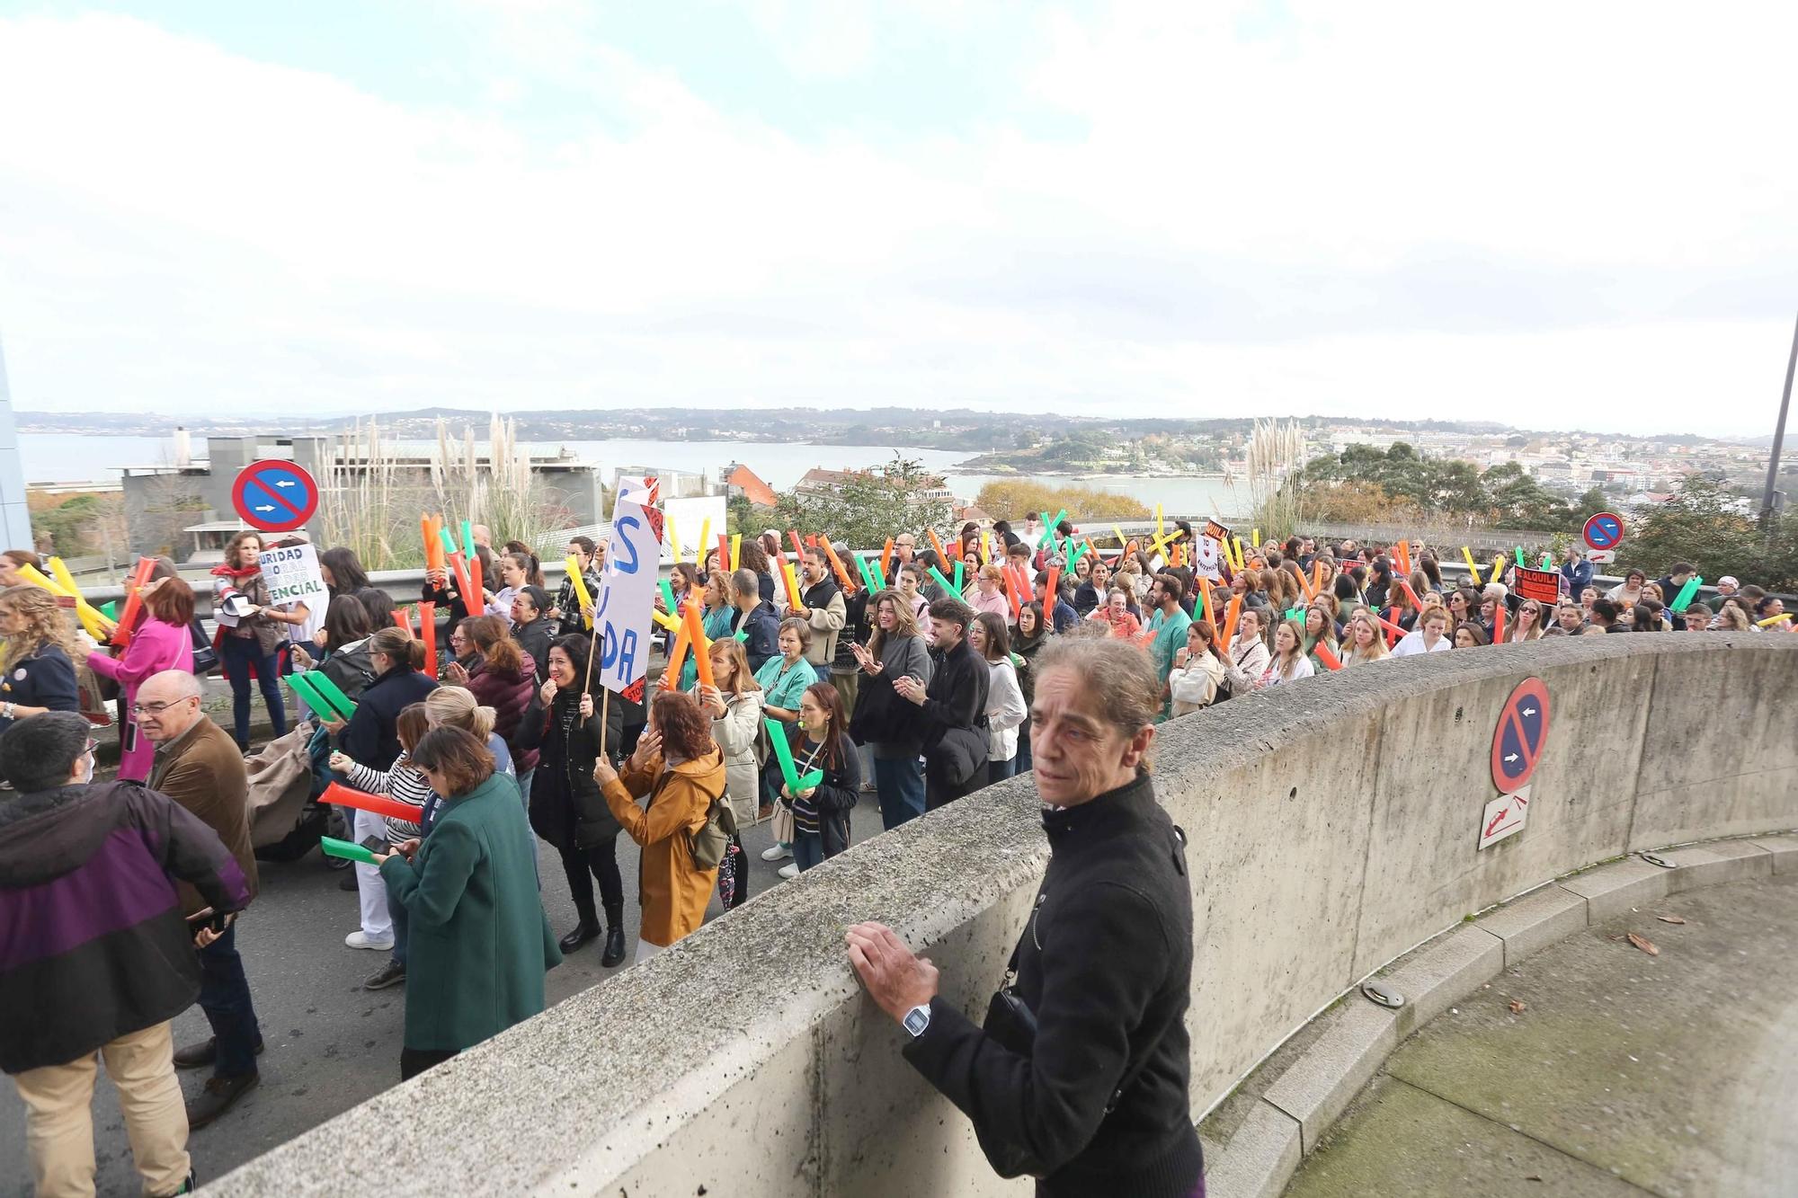
<svg viewBox="0 0 1798 1198">
<path fill-rule="evenodd" d="M 67 1065 L 192 1006 L 198 925 L 176 880 L 218 914 L 250 901 L 218 833 L 138 782 L 0 802 L 0 1068 Z"/>
</svg>

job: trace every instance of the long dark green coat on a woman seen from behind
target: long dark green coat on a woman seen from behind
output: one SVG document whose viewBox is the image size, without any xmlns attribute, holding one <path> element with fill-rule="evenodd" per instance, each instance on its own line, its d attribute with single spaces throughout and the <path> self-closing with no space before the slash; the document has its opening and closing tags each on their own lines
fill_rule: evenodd
<svg viewBox="0 0 1798 1198">
<path fill-rule="evenodd" d="M 408 1049 L 467 1049 L 543 1009 L 543 971 L 561 950 L 534 858 L 518 784 L 494 773 L 444 800 L 412 862 L 383 862 L 408 916 Z"/>
</svg>

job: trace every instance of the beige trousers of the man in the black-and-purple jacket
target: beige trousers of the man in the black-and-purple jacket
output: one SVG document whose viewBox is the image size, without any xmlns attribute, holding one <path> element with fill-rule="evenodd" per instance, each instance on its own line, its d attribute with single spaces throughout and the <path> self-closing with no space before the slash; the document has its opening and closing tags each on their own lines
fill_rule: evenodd
<svg viewBox="0 0 1798 1198">
<path fill-rule="evenodd" d="M 27 1068 L 13 1076 L 25 1101 L 25 1149 L 38 1198 L 93 1194 L 93 1076 L 106 1058 L 106 1076 L 119 1090 L 131 1158 L 146 1194 L 173 1194 L 187 1180 L 187 1106 L 174 1079 L 174 1038 L 156 1024 L 102 1045 L 67 1065 Z"/>
</svg>

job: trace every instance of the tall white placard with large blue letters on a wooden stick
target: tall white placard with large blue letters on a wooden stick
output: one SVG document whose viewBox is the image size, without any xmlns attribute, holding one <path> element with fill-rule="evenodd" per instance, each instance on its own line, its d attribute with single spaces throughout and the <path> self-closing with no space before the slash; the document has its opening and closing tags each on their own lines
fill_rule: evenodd
<svg viewBox="0 0 1798 1198">
<path fill-rule="evenodd" d="M 651 612 L 662 561 L 662 511 L 651 507 L 649 478 L 620 478 L 611 507 L 611 552 L 595 597 L 599 680 L 608 691 L 640 703 L 649 671 Z"/>
</svg>

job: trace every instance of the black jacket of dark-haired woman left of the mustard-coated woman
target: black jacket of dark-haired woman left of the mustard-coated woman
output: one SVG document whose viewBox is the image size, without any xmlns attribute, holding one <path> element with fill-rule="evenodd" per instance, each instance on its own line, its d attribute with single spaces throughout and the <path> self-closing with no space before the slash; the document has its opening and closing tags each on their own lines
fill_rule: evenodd
<svg viewBox="0 0 1798 1198">
<path fill-rule="evenodd" d="M 613 761 L 624 738 L 624 705 L 617 694 L 610 703 L 604 698 L 595 693 L 593 714 L 581 720 L 579 711 L 570 711 L 579 709 L 579 689 L 557 691 L 548 707 L 539 689 L 518 721 L 518 747 L 541 750 L 530 779 L 530 827 L 557 849 L 570 842 L 586 849 L 619 835 L 619 820 L 593 781 L 601 711 L 606 712 L 606 755 Z"/>
</svg>

